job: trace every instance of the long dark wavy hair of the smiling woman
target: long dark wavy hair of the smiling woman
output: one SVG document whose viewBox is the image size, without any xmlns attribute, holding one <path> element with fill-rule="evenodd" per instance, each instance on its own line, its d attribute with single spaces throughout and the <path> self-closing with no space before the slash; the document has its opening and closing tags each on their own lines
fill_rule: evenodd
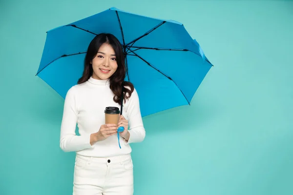
<svg viewBox="0 0 293 195">
<path fill-rule="evenodd" d="M 94 39 L 92 39 L 92 41 L 89 43 L 84 59 L 84 73 L 83 76 L 78 80 L 78 84 L 84 83 L 92 76 L 93 67 L 90 62 L 92 59 L 95 58 L 99 51 L 99 48 L 104 43 L 111 45 L 111 47 L 115 51 L 118 67 L 115 73 L 109 78 L 109 81 L 110 89 L 115 95 L 113 97 L 113 100 L 121 105 L 122 86 L 124 87 L 123 92 L 125 101 L 126 99 L 130 98 L 134 90 L 134 86 L 131 82 L 124 81 L 124 78 L 126 76 L 125 56 L 120 41 L 112 34 L 101 33 L 97 35 Z M 128 89 L 127 86 L 130 87 L 130 89 Z M 126 96 L 126 94 L 128 94 L 128 96 Z"/>
</svg>

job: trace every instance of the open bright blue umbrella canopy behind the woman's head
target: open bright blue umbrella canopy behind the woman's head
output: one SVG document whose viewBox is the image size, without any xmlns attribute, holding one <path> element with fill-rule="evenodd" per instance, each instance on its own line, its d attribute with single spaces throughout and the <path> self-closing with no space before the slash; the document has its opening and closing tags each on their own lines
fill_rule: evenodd
<svg viewBox="0 0 293 195">
<path fill-rule="evenodd" d="M 142 117 L 188 105 L 211 66 L 182 23 L 110 8 L 47 32 L 37 76 L 65 98 L 83 74 L 90 41 L 116 36 L 126 56 L 126 81 L 134 84 Z"/>
</svg>

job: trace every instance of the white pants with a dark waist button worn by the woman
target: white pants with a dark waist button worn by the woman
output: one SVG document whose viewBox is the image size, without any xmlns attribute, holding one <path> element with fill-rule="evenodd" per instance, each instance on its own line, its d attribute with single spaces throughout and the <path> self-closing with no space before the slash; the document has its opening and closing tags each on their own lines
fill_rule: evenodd
<svg viewBox="0 0 293 195">
<path fill-rule="evenodd" d="M 133 195 L 131 155 L 76 156 L 73 195 Z"/>
</svg>

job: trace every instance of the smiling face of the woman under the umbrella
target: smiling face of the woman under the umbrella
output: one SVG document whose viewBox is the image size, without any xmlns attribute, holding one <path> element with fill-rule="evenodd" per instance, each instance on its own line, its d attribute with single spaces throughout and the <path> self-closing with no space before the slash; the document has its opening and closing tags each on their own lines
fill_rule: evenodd
<svg viewBox="0 0 293 195">
<path fill-rule="evenodd" d="M 117 61 L 111 45 L 104 43 L 97 55 L 91 61 L 93 67 L 93 78 L 105 80 L 110 78 L 117 70 Z"/>
</svg>

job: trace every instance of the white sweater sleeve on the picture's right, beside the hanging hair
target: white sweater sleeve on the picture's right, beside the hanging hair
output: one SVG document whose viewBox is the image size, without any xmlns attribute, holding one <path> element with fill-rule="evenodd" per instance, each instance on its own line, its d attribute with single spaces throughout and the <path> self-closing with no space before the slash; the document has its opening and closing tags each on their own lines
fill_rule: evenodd
<svg viewBox="0 0 293 195">
<path fill-rule="evenodd" d="M 146 131 L 143 124 L 143 119 L 140 111 L 139 97 L 137 91 L 134 91 L 129 98 L 128 107 L 128 127 L 130 137 L 128 141 L 124 140 L 125 144 L 142 142 L 146 137 Z"/>
</svg>

